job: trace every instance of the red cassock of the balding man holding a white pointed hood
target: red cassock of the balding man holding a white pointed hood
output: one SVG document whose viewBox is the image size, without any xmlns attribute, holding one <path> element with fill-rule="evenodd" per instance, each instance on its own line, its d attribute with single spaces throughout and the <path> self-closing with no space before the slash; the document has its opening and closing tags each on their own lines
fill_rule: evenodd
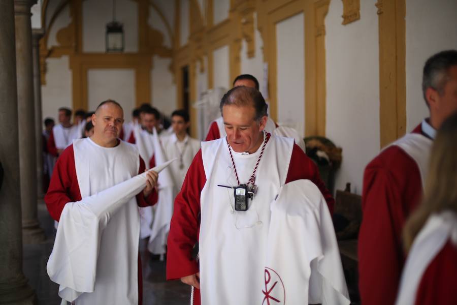
<svg viewBox="0 0 457 305">
<path fill-rule="evenodd" d="M 140 158 L 140 168 L 138 173 L 145 170 L 143 159 Z M 76 176 L 75 155 L 73 152 L 73 144 L 67 147 L 54 167 L 51 181 L 49 183 L 48 192 L 44 198 L 49 214 L 55 221 L 59 221 L 63 206 L 68 202 L 81 200 L 78 179 Z M 137 195 L 138 206 L 150 206 L 157 202 L 157 193 L 152 191 L 148 198 L 144 198 L 143 194 Z M 138 291 L 139 304 L 142 303 L 143 278 L 141 272 L 141 260 L 138 254 Z"/>
</svg>

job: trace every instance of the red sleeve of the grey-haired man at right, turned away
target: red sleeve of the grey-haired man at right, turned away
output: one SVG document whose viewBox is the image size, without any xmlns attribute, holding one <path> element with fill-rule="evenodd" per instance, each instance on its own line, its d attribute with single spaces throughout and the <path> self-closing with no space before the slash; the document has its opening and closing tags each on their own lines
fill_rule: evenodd
<svg viewBox="0 0 457 305">
<path fill-rule="evenodd" d="M 421 196 L 420 174 L 397 146 L 368 164 L 358 236 L 359 289 L 363 304 L 394 304 L 404 264 L 401 232 Z"/>
</svg>

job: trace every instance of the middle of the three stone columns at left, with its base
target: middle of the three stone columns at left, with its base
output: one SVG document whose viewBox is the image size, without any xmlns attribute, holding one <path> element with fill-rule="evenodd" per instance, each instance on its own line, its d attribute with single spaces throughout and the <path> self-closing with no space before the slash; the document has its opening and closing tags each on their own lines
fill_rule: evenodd
<svg viewBox="0 0 457 305">
<path fill-rule="evenodd" d="M 38 243 L 45 239 L 37 215 L 37 157 L 30 22 L 30 7 L 36 2 L 37 0 L 14 0 L 22 241 L 24 243 Z"/>
</svg>

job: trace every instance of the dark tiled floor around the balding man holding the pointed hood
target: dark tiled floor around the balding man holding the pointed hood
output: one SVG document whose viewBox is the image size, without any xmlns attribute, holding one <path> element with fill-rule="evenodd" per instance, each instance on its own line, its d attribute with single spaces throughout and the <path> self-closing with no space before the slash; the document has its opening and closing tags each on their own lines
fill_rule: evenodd
<svg viewBox="0 0 457 305">
<path fill-rule="evenodd" d="M 40 305 L 59 305 L 58 285 L 51 282 L 46 273 L 46 262 L 54 243 L 55 230 L 44 204 L 38 206 L 40 223 L 48 238 L 40 245 L 24 246 L 23 270 L 29 279 L 30 286 L 37 293 Z M 143 261 L 143 304 L 175 305 L 190 303 L 189 286 L 179 281 L 167 282 L 165 280 L 165 262 L 150 259 L 141 242 L 140 250 Z"/>
</svg>

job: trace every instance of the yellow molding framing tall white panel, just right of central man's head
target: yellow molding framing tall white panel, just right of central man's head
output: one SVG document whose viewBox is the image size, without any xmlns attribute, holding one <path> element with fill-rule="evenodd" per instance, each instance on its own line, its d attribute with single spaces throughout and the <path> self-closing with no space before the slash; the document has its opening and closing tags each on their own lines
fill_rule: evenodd
<svg viewBox="0 0 457 305">
<path fill-rule="evenodd" d="M 276 24 L 304 14 L 305 41 L 305 135 L 325 135 L 325 15 L 330 0 L 258 0 L 257 28 L 264 38 L 268 63 L 271 117 L 277 119 Z"/>
</svg>

